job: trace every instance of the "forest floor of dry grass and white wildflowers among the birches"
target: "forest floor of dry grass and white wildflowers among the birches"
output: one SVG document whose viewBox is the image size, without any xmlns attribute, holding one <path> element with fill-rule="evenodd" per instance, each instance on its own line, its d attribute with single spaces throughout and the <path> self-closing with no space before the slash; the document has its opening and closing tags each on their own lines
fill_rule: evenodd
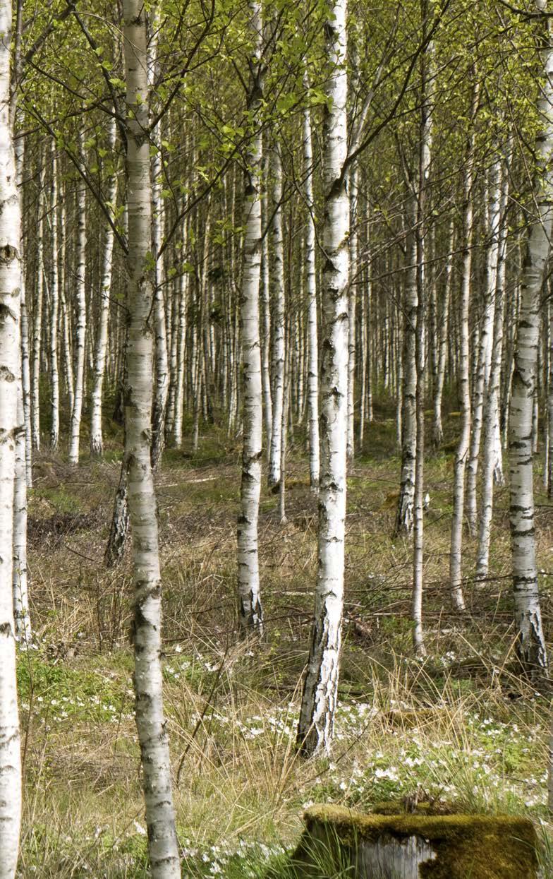
<svg viewBox="0 0 553 879">
<path fill-rule="evenodd" d="M 451 435 L 455 418 L 449 419 Z M 446 437 L 448 439 L 448 437 Z M 83 438 L 83 447 L 86 438 Z M 416 661 L 411 548 L 392 541 L 399 485 L 394 425 L 370 425 L 348 476 L 346 622 L 332 759 L 294 750 L 316 571 L 317 503 L 304 444 L 290 454 L 287 518 L 262 492 L 266 636 L 237 642 L 235 522 L 240 442 L 205 429 L 191 456 L 169 451 L 156 477 L 164 585 L 164 679 L 183 876 L 262 876 L 293 846 L 308 803 L 419 795 L 469 812 L 531 817 L 553 876 L 546 752 L 549 697 L 514 664 L 507 490 L 496 490 L 492 578 L 467 613 L 449 603 L 453 458 L 428 454 L 424 620 Z M 104 568 L 119 462 L 37 455 L 29 505 L 36 643 L 20 650 L 25 806 L 21 876 L 145 876 L 133 721 L 128 557 Z M 536 475 L 538 561 L 553 635 L 553 516 Z M 549 863 L 549 866 L 547 866 Z"/>
</svg>

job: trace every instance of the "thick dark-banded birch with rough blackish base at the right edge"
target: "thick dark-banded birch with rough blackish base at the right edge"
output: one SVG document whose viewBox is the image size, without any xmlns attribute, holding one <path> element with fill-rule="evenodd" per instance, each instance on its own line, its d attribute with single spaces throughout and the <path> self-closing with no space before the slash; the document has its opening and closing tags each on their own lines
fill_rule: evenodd
<svg viewBox="0 0 553 879">
<path fill-rule="evenodd" d="M 537 0 L 540 11 L 545 0 Z M 533 676 L 547 672 L 547 655 L 535 562 L 534 467 L 532 417 L 540 333 L 540 296 L 551 240 L 553 166 L 553 47 L 549 18 L 540 21 L 544 79 L 538 108 L 542 133 L 535 149 L 542 173 L 535 183 L 536 215 L 530 220 L 521 278 L 521 308 L 514 350 L 513 387 L 509 419 L 510 524 L 513 559 L 514 613 L 517 652 L 522 668 Z"/>
</svg>

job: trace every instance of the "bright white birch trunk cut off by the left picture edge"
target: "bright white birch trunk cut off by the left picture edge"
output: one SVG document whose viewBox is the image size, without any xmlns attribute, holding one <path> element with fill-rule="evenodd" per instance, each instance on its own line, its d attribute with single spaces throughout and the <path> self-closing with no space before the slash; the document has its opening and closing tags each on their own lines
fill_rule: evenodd
<svg viewBox="0 0 553 879">
<path fill-rule="evenodd" d="M 19 244 L 10 103 L 11 2 L 0 2 L 0 879 L 14 879 L 21 823 L 21 759 L 13 618 L 13 500 L 18 421 Z M 23 407 L 19 415 L 22 416 Z M 25 460 L 25 459 L 24 459 Z M 24 482 L 25 484 L 25 482 Z"/>
</svg>

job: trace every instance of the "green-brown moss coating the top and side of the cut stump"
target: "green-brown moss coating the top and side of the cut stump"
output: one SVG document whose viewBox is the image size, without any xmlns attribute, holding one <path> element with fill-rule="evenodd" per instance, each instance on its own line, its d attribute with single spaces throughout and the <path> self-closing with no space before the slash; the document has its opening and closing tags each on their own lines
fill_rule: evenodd
<svg viewBox="0 0 553 879">
<path fill-rule="evenodd" d="M 352 861 L 363 842 L 429 840 L 436 858 L 420 864 L 420 879 L 535 879 L 534 825 L 526 818 L 483 815 L 363 815 L 341 806 L 312 806 L 295 858 L 306 863 L 313 839 L 332 840 Z M 309 875 L 308 873 L 306 875 Z"/>
</svg>

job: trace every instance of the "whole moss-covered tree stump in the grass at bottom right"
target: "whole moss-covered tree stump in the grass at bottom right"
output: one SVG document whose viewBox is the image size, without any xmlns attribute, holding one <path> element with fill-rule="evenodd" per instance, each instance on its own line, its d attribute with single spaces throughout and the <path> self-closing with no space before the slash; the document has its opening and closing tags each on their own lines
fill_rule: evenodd
<svg viewBox="0 0 553 879">
<path fill-rule="evenodd" d="M 537 879 L 536 836 L 526 818 L 363 815 L 312 806 L 293 857 L 302 879 Z"/>
</svg>

